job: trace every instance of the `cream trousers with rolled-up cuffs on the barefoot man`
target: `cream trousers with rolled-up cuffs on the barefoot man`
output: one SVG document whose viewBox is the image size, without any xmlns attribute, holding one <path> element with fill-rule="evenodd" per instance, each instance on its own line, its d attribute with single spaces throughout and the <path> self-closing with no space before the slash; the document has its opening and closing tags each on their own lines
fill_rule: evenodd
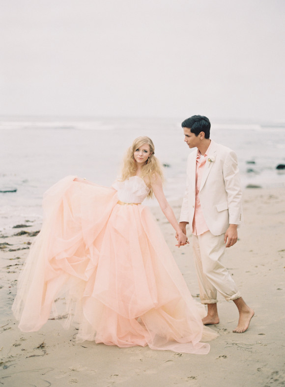
<svg viewBox="0 0 285 387">
<path fill-rule="evenodd" d="M 217 291 L 227 301 L 241 297 L 231 275 L 222 264 L 226 248 L 224 238 L 225 234 L 215 236 L 210 231 L 193 235 L 194 260 L 202 304 L 218 302 Z"/>
</svg>

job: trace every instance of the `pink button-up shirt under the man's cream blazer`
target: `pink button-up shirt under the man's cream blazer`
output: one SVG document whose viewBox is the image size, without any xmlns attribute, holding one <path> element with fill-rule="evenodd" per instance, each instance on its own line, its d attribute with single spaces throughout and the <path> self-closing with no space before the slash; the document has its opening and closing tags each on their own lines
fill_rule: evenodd
<svg viewBox="0 0 285 387">
<path fill-rule="evenodd" d="M 209 150 L 211 148 L 211 143 L 206 150 L 206 153 L 202 156 L 199 149 L 197 152 L 197 158 L 196 158 L 196 200 L 195 200 L 195 212 L 194 212 L 194 218 L 193 218 L 193 235 L 201 235 L 205 233 L 206 231 L 209 231 L 208 226 L 206 225 L 205 218 L 202 212 L 200 198 L 199 198 L 199 191 L 200 191 L 200 185 L 201 180 L 203 177 L 203 171 L 205 168 L 205 164 L 207 161 L 207 156 L 209 154 Z"/>
</svg>

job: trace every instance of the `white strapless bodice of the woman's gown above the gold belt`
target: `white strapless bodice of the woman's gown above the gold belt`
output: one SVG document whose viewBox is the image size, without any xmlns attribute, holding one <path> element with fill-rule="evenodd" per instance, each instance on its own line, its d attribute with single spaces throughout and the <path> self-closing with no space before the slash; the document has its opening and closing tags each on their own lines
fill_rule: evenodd
<svg viewBox="0 0 285 387">
<path fill-rule="evenodd" d="M 118 199 L 125 203 L 142 203 L 150 191 L 139 176 L 132 176 L 124 181 L 116 180 L 113 187 L 118 191 Z"/>
</svg>

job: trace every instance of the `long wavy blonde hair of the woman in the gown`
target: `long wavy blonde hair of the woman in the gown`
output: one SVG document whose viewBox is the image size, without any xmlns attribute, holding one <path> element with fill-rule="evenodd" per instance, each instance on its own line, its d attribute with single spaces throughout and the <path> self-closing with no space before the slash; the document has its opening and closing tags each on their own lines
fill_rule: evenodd
<svg viewBox="0 0 285 387">
<path fill-rule="evenodd" d="M 136 149 L 142 147 L 142 145 L 145 145 L 145 144 L 149 145 L 150 155 L 142 167 L 141 178 L 143 179 L 144 177 L 147 176 L 149 180 L 151 180 L 151 176 L 153 174 L 158 174 L 161 177 L 161 179 L 164 181 L 162 167 L 160 165 L 159 160 L 154 155 L 153 142 L 147 136 L 141 136 L 136 138 L 133 142 L 133 145 L 127 150 L 125 157 L 123 159 L 123 166 L 121 170 L 121 181 L 129 179 L 130 177 L 136 175 L 137 164 L 134 159 L 134 152 Z M 152 198 L 152 197 L 153 197 L 153 191 L 152 191 L 152 188 L 150 188 L 147 198 Z"/>
</svg>

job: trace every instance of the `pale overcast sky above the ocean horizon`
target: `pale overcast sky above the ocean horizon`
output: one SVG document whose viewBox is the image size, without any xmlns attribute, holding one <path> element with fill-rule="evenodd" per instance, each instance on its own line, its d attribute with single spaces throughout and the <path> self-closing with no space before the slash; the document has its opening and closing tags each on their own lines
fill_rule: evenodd
<svg viewBox="0 0 285 387">
<path fill-rule="evenodd" d="M 0 0 L 0 115 L 285 119 L 285 0 Z"/>
</svg>

